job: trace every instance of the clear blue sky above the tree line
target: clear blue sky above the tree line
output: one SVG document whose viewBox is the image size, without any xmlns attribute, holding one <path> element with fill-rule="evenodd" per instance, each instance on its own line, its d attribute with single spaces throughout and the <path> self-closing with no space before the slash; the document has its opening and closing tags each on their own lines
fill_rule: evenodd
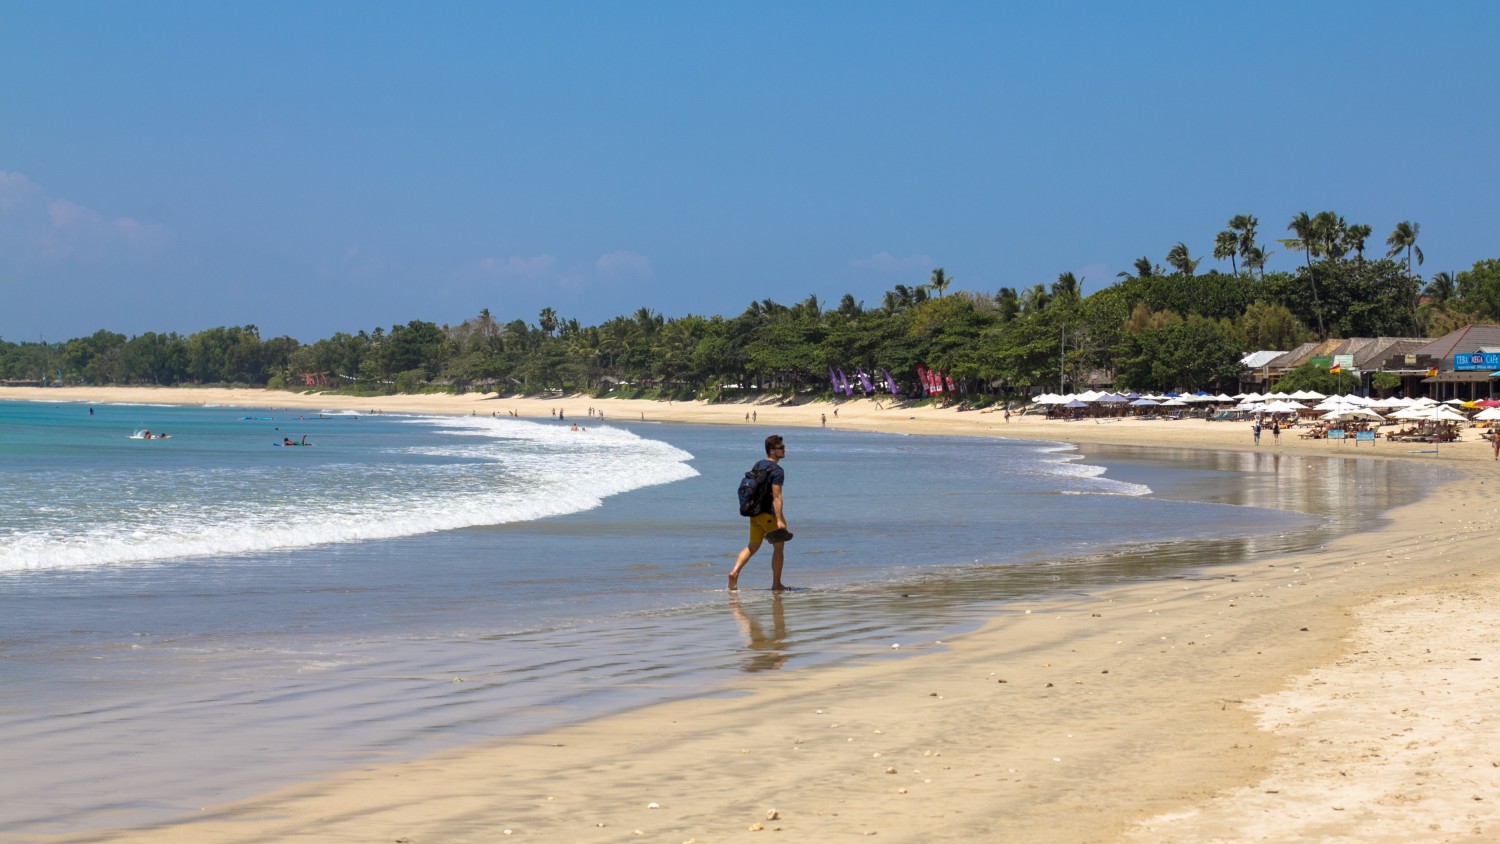
<svg viewBox="0 0 1500 844">
<path fill-rule="evenodd" d="M 1500 258 L 1494 3 L 0 0 L 0 337 Z M 1270 268 L 1298 256 L 1275 246 Z"/>
</svg>

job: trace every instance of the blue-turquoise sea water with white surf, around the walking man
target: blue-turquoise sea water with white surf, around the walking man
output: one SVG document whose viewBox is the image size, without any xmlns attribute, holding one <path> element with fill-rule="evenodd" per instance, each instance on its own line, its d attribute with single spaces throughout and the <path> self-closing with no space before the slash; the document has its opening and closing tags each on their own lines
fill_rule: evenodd
<svg viewBox="0 0 1500 844">
<path fill-rule="evenodd" d="M 1010 600 L 1312 547 L 1426 483 L 578 412 L 92 408 L 0 402 L 0 829 L 27 835 L 920 651 Z M 766 549 L 730 598 L 734 486 L 766 433 L 800 588 L 766 591 Z"/>
</svg>

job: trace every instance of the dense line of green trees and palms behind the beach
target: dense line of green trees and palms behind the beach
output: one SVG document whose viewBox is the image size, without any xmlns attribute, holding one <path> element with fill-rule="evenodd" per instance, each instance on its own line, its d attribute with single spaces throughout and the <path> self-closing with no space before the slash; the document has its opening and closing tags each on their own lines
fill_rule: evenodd
<svg viewBox="0 0 1500 844">
<path fill-rule="evenodd" d="M 189 336 L 96 331 L 66 343 L 0 340 L 0 378 L 86 384 L 250 384 L 364 391 L 658 390 L 716 396 L 724 388 L 826 390 L 828 367 L 890 370 L 904 391 L 918 366 L 964 393 L 1071 390 L 1102 375 L 1119 387 L 1232 387 L 1239 360 L 1318 337 L 1437 336 L 1500 321 L 1500 259 L 1424 280 L 1420 226 L 1398 223 L 1383 256 L 1372 229 L 1334 214 L 1298 214 L 1276 243 L 1302 258 L 1268 273 L 1258 220 L 1239 214 L 1212 244 L 1227 271 L 1198 273 L 1186 243 L 1166 265 L 1134 262 L 1114 283 L 1082 294 L 1083 279 L 998 291 L 950 289 L 942 268 L 896 285 L 876 306 L 846 294 L 795 304 L 752 301 L 738 316 L 663 318 L 642 307 L 600 325 L 543 309 L 536 322 L 489 310 L 459 325 L 411 321 L 339 333 L 315 343 L 262 340 L 255 325 Z"/>
</svg>

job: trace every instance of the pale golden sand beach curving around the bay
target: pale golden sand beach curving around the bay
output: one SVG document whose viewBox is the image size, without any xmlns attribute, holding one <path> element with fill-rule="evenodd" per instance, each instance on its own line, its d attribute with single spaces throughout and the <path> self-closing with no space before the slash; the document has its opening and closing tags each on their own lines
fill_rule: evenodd
<svg viewBox="0 0 1500 844">
<path fill-rule="evenodd" d="M 159 402 L 818 426 L 1215 450 L 1245 424 L 258 390 L 0 390 Z M 1488 445 L 1329 444 L 1455 480 L 1316 553 L 1006 606 L 903 660 L 372 766 L 87 841 L 1488 841 L 1500 837 L 1500 517 Z M 1419 453 L 1420 451 L 1420 453 Z M 892 645 L 897 645 L 892 642 Z"/>
</svg>

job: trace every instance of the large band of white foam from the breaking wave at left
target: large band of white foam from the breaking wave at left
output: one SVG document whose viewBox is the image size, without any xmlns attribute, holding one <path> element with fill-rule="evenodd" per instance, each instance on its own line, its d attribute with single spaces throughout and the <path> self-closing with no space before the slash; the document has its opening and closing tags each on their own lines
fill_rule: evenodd
<svg viewBox="0 0 1500 844">
<path fill-rule="evenodd" d="M 0 528 L 0 571 L 140 564 L 390 540 L 566 516 L 604 498 L 694 477 L 692 454 L 634 433 L 514 420 L 412 418 L 450 442 L 406 459 L 332 466 L 156 471 L 111 502 L 87 484 L 68 505 Z M 420 457 L 411 460 L 410 457 Z M 142 504 L 144 502 L 144 504 Z M 90 513 L 88 510 L 94 511 Z"/>
</svg>

